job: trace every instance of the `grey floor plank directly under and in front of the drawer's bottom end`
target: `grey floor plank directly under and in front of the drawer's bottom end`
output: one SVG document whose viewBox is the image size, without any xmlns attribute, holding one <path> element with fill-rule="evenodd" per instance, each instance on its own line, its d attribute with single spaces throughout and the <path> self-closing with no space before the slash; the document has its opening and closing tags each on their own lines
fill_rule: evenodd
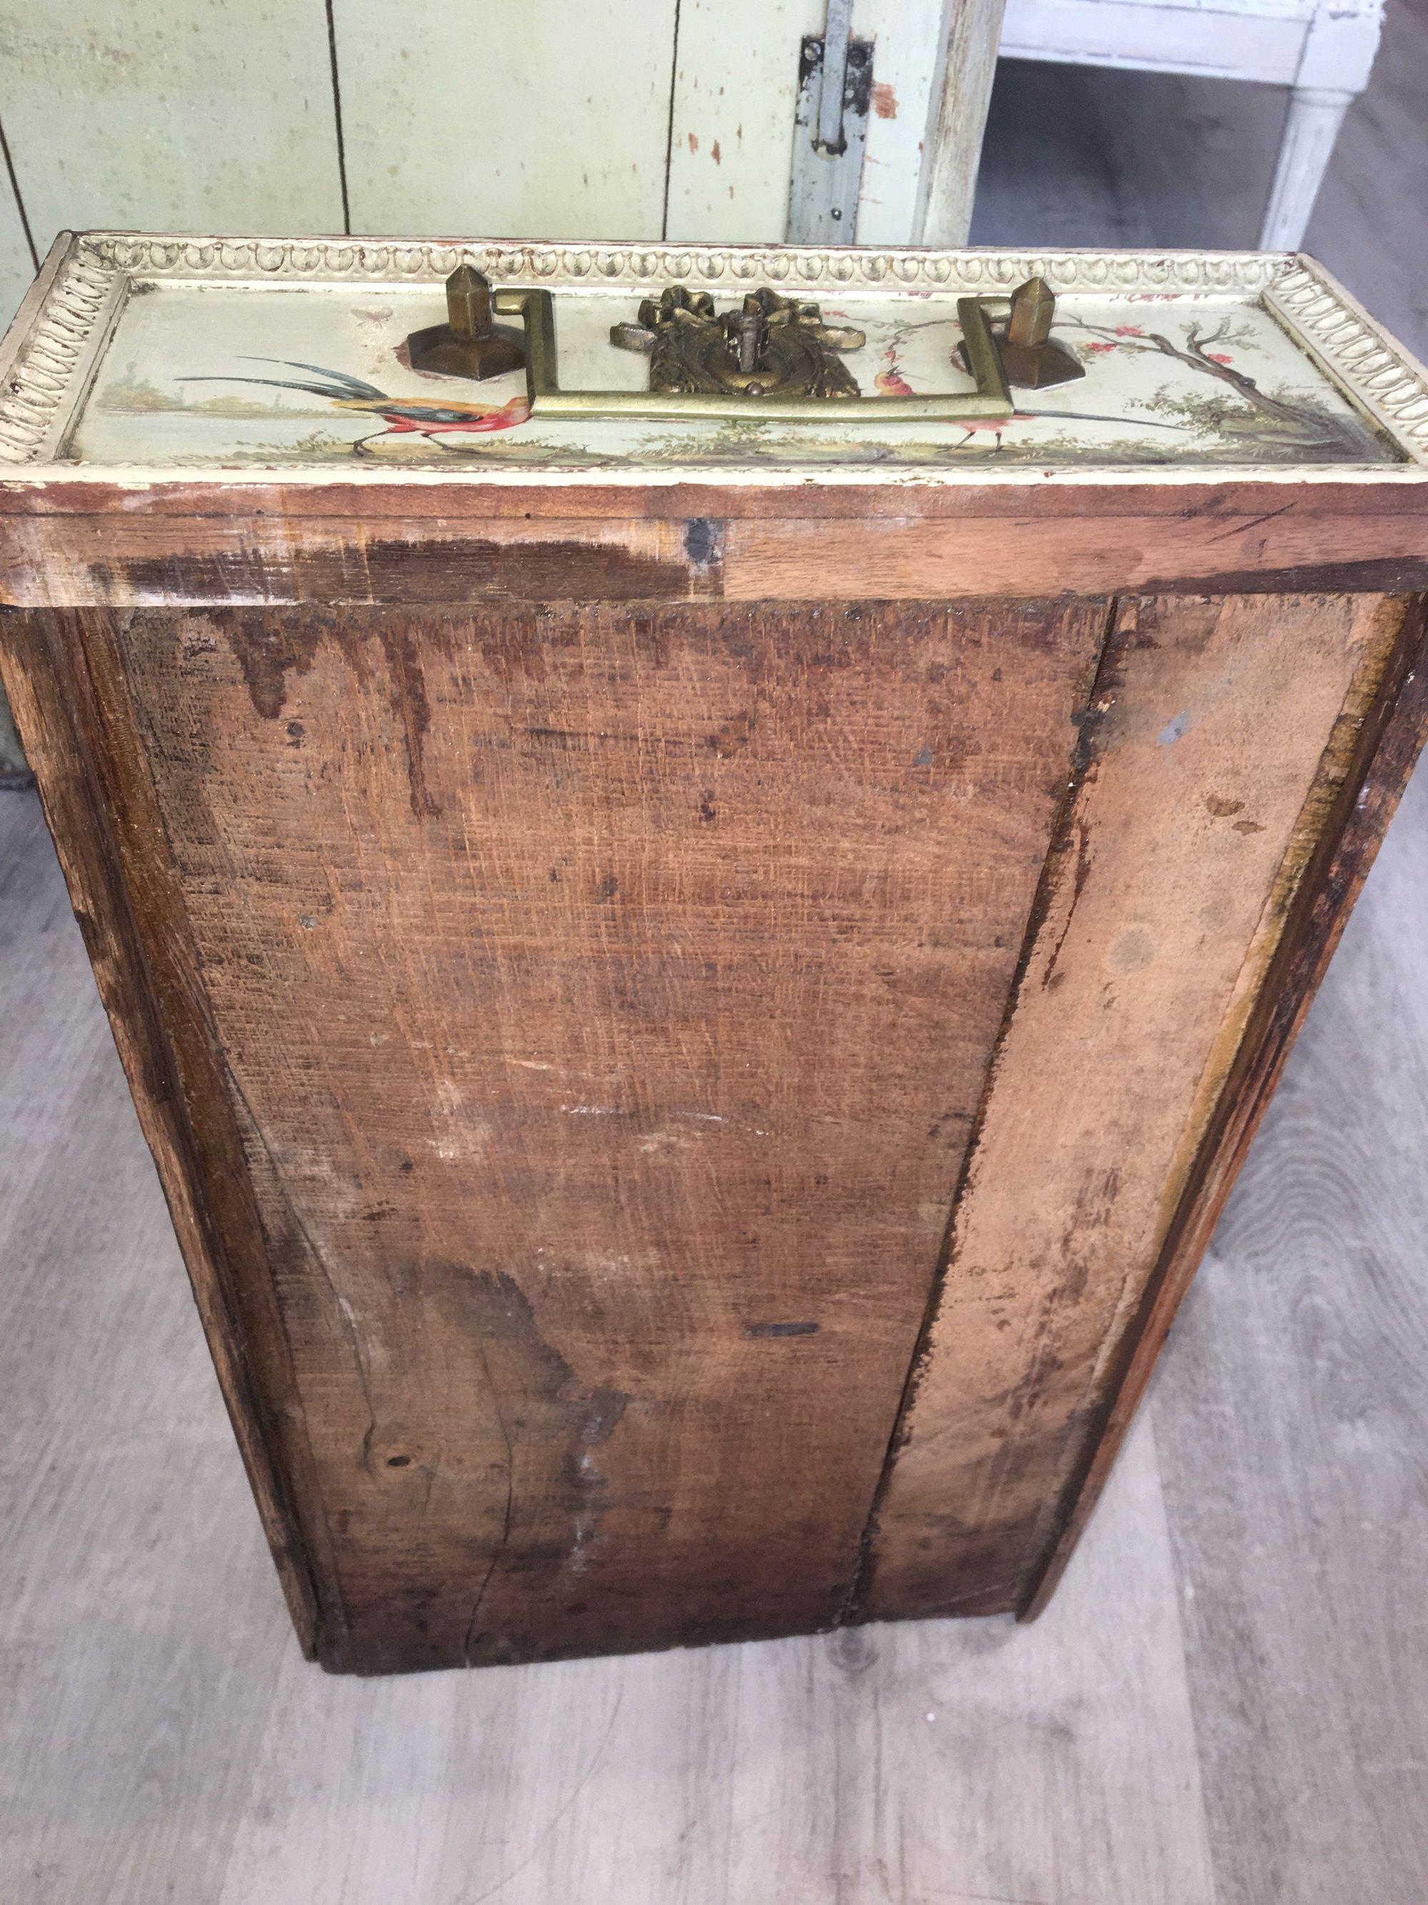
<svg viewBox="0 0 1428 1905">
<path fill-rule="evenodd" d="M 1211 1905 L 1154 1442 L 1034 1629 L 406 1680 L 284 1655 L 223 1905 Z"/>
</svg>

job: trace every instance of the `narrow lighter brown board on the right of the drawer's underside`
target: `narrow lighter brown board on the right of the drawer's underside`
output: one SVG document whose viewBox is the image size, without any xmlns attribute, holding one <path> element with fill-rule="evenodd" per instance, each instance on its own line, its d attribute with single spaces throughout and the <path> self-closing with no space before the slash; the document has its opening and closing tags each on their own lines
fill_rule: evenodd
<svg viewBox="0 0 1428 1905">
<path fill-rule="evenodd" d="M 1121 604 L 874 1511 L 866 1617 L 1022 1606 L 1401 623 L 1382 596 Z"/>
</svg>

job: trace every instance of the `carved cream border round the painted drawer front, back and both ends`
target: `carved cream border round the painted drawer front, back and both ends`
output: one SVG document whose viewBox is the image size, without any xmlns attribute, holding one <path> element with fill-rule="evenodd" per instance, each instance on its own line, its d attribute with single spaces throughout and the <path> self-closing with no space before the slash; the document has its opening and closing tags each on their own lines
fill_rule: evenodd
<svg viewBox="0 0 1428 1905">
<path fill-rule="evenodd" d="M 1055 291 L 1257 299 L 1413 463 L 1428 463 L 1428 373 L 1312 259 L 1274 251 L 878 251 L 802 246 L 506 244 L 449 238 L 225 238 L 80 232 L 0 389 L 0 467 L 40 463 L 109 301 L 129 278 L 322 284 L 444 280 L 470 263 L 503 282 L 651 288 L 750 280 L 914 293 Z M 1209 469 L 1209 465 L 1205 465 Z M 1386 467 L 1386 474 L 1392 465 Z M 1243 474 L 1243 471 L 1238 471 Z"/>
</svg>

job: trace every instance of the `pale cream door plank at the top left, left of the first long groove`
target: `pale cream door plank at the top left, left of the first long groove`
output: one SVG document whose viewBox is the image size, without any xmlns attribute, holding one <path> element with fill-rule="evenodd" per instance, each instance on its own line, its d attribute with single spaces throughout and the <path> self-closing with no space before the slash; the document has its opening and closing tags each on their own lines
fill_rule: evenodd
<svg viewBox="0 0 1428 1905">
<path fill-rule="evenodd" d="M 0 0 L 0 124 L 63 227 L 341 231 L 322 0 Z"/>
</svg>

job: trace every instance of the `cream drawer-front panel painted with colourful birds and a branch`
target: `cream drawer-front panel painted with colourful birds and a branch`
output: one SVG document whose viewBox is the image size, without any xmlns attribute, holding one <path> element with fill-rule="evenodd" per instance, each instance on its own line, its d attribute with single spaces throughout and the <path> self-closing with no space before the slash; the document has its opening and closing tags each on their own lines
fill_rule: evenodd
<svg viewBox="0 0 1428 1905">
<path fill-rule="evenodd" d="M 562 387 L 647 389 L 647 358 L 609 341 L 647 288 L 575 291 L 552 278 L 552 290 Z M 539 406 L 529 413 L 524 371 L 476 385 L 402 362 L 407 333 L 440 322 L 438 284 L 150 280 L 124 305 L 59 455 L 175 469 L 354 455 L 396 467 L 640 471 L 1396 461 L 1247 297 L 1062 295 L 1053 335 L 1083 375 L 1019 392 L 1017 415 L 996 423 L 889 423 L 878 411 L 882 396 L 973 389 L 954 356 L 956 295 L 828 286 L 821 309 L 863 333 L 861 347 L 840 352 L 859 402 L 826 402 L 803 423 L 760 417 L 756 400 L 727 423 L 546 419 Z"/>
</svg>

